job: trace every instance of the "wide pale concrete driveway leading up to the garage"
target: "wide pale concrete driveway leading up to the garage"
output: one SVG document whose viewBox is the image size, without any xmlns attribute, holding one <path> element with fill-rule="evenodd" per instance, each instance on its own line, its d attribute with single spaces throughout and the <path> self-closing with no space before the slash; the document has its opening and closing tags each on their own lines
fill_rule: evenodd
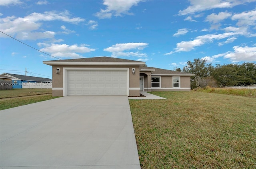
<svg viewBox="0 0 256 169">
<path fill-rule="evenodd" d="M 127 96 L 67 96 L 0 111 L 1 169 L 140 169 Z"/>
</svg>

